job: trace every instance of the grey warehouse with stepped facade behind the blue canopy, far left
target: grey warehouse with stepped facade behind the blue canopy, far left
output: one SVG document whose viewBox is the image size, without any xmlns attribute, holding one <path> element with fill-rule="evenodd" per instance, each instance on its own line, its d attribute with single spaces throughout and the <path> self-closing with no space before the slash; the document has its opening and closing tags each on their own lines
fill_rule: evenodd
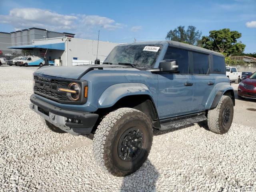
<svg viewBox="0 0 256 192">
<path fill-rule="evenodd" d="M 15 54 L 21 54 L 21 50 L 12 50 L 8 49 L 8 47 L 29 45 L 32 44 L 33 40 L 56 38 L 63 36 L 73 38 L 75 34 L 48 31 L 47 29 L 40 29 L 35 27 L 18 30 L 10 33 L 0 32 L 0 50 L 2 51 L 2 54 L 12 54 L 13 52 Z"/>
</svg>

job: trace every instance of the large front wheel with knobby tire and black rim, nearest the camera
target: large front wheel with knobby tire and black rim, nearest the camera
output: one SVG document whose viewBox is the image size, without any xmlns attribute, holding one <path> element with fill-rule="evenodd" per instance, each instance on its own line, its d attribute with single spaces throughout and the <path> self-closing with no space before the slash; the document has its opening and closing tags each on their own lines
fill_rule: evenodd
<svg viewBox="0 0 256 192">
<path fill-rule="evenodd" d="M 119 108 L 100 122 L 93 139 L 94 156 L 112 175 L 127 176 L 146 161 L 152 140 L 152 122 L 146 114 Z"/>
</svg>

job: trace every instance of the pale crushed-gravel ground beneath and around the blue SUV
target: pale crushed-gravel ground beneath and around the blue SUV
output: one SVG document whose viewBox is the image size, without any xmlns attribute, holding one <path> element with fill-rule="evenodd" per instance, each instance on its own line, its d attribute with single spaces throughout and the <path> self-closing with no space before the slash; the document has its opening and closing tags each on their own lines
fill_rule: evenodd
<svg viewBox="0 0 256 192">
<path fill-rule="evenodd" d="M 240 124 L 224 135 L 198 124 L 155 133 L 136 173 L 103 172 L 90 138 L 51 132 L 30 110 L 34 70 L 0 66 L 0 192 L 256 191 L 256 132 Z"/>
</svg>

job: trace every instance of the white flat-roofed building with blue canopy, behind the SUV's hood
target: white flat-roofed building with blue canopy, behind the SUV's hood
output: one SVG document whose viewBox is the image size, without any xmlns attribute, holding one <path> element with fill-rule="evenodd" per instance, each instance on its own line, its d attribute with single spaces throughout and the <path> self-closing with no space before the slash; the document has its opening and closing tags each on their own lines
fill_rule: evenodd
<svg viewBox="0 0 256 192">
<path fill-rule="evenodd" d="M 30 50 L 31 54 L 44 58 L 45 63 L 74 66 L 94 64 L 96 58 L 100 59 L 102 63 L 116 45 L 118 44 L 112 42 L 57 37 L 32 40 L 31 44 L 10 46 L 8 48 L 14 50 Z"/>
</svg>

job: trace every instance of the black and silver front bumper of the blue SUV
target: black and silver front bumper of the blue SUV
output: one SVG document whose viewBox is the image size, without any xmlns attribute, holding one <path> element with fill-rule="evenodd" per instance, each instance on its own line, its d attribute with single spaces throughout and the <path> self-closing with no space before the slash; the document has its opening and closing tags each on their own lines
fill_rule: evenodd
<svg viewBox="0 0 256 192">
<path fill-rule="evenodd" d="M 30 101 L 30 108 L 34 112 L 58 128 L 73 135 L 90 134 L 98 120 L 98 114 L 62 109 L 40 100 L 35 94 L 30 96 Z M 80 120 L 80 123 L 67 122 L 68 118 Z"/>
</svg>

